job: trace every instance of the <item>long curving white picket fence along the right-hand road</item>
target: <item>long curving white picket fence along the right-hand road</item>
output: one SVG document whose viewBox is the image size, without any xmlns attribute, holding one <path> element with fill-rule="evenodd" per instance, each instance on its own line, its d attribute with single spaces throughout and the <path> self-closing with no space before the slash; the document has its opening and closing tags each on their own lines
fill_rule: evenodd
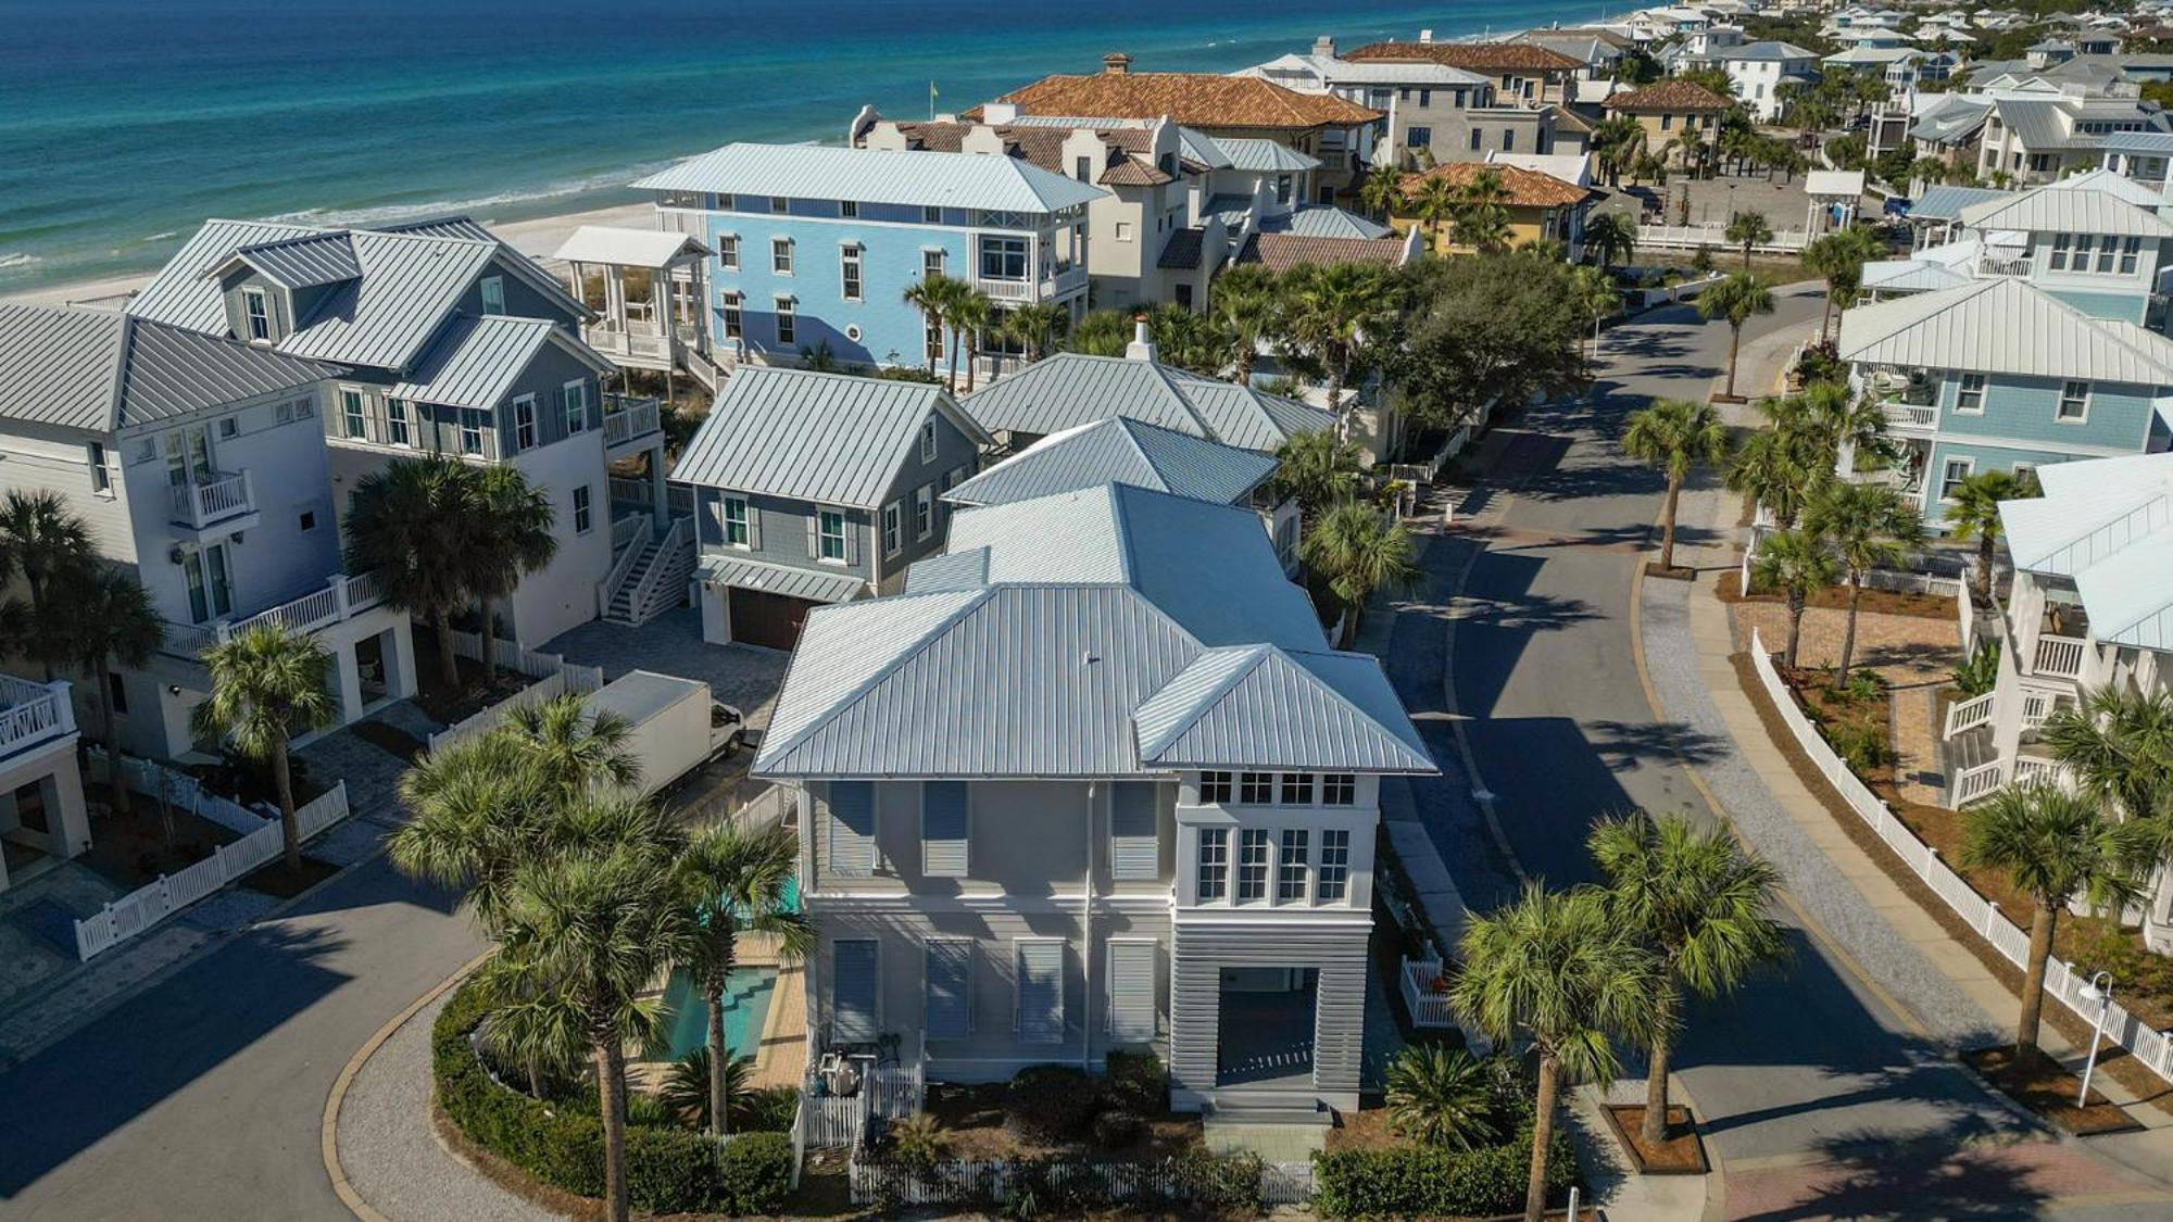
<svg viewBox="0 0 2173 1222">
<path fill-rule="evenodd" d="M 1841 798 L 1849 802 L 1871 831 L 1895 850 L 1897 857 L 1914 872 L 1932 891 L 1960 915 L 1969 928 L 1977 931 L 2017 968 L 2025 965 L 2030 959 L 2030 933 L 1999 913 L 1999 905 L 1986 900 L 1969 885 L 1967 878 L 1947 868 L 1938 859 L 1938 850 L 1930 844 L 1917 839 L 1917 833 L 1908 828 L 1895 813 L 1882 802 L 1862 781 L 1849 772 L 1834 748 L 1825 746 L 1825 737 L 1819 728 L 1810 724 L 1804 711 L 1795 704 L 1795 696 L 1788 685 L 1780 681 L 1780 672 L 1773 670 L 1773 657 L 1767 652 L 1764 641 L 1758 639 L 1758 631 L 1751 628 L 1751 665 L 1758 670 L 1758 683 L 1764 685 L 1767 696 L 1773 707 L 1780 709 L 1782 720 L 1788 724 L 1788 733 L 1795 735 L 1797 746 L 1804 755 L 1832 781 Z M 2088 983 L 2088 976 L 2077 972 L 2071 963 L 2053 959 L 2045 970 L 2045 992 L 2060 1000 L 2067 1009 L 2075 1011 L 2084 1022 L 2097 1022 L 2101 1007 L 2097 1002 L 2084 1002 L 2077 992 Z M 2162 1031 L 2151 1031 L 2136 1015 L 2121 1009 L 2117 1002 L 2103 1011 L 2106 1013 L 2106 1035 L 2114 1044 L 2121 1044 L 2134 1052 L 2136 1061 L 2145 1063 L 2160 1078 L 2173 1083 L 2173 1039 Z"/>
</svg>

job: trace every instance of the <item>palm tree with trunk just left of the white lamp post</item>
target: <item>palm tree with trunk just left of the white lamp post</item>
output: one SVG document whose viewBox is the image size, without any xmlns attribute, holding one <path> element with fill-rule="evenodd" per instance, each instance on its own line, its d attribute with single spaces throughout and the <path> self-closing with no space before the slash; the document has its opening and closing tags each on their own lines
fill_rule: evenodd
<svg viewBox="0 0 2173 1222">
<path fill-rule="evenodd" d="M 2032 783 L 2001 789 L 1993 800 L 1962 811 L 1962 865 L 1999 870 L 2030 896 L 2030 963 L 2023 978 L 2023 1013 L 2014 1024 L 2014 1055 L 2036 1046 L 2045 1009 L 2045 961 L 2060 909 L 2086 898 L 2097 909 L 2119 911 L 2143 896 L 2145 876 L 2158 857 L 2156 828 L 2145 822 L 2114 822 L 2086 794 Z"/>
</svg>

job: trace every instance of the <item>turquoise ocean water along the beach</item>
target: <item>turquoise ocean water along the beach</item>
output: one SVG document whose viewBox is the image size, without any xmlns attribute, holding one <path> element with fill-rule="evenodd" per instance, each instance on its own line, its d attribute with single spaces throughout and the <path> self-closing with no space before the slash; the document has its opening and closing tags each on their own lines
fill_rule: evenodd
<svg viewBox="0 0 2173 1222">
<path fill-rule="evenodd" d="M 1234 70 L 1582 22 L 1595 2 L 0 0 L 0 294 L 156 267 L 198 222 L 522 220 L 734 139 L 843 139 L 1047 72 Z"/>
</svg>

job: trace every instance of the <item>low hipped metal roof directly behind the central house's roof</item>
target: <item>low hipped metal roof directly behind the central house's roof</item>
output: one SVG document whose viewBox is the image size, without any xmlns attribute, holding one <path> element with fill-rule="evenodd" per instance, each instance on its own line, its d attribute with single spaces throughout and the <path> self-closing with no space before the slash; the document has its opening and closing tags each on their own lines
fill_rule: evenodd
<svg viewBox="0 0 2173 1222">
<path fill-rule="evenodd" d="M 1123 483 L 1236 504 L 1276 472 L 1276 459 L 1139 420 L 1080 424 L 1034 441 L 943 494 L 956 504 L 1008 504 Z"/>
</svg>

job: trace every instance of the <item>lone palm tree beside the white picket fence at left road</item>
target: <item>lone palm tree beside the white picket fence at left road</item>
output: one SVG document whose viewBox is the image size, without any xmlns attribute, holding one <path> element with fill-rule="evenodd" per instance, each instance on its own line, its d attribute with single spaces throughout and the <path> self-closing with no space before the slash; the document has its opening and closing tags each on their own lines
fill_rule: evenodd
<svg viewBox="0 0 2173 1222">
<path fill-rule="evenodd" d="M 332 654 L 317 641 L 261 624 L 204 650 L 211 696 L 196 707 L 196 733 L 226 737 L 243 757 L 272 763 L 287 874 L 302 878 L 302 835 L 293 822 L 293 772 L 287 741 L 339 720 L 332 704 Z"/>
</svg>

